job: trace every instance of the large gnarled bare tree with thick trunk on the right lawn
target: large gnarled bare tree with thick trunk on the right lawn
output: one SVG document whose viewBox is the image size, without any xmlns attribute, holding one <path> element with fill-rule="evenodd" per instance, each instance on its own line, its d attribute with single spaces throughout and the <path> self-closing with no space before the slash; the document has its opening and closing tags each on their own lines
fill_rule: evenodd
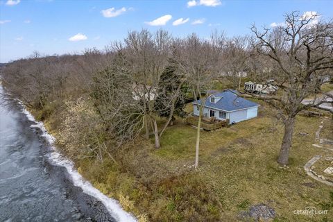
<svg viewBox="0 0 333 222">
<path fill-rule="evenodd" d="M 302 103 L 307 96 L 321 93 L 325 77 L 332 78 L 333 24 L 321 21 L 316 14 L 291 12 L 285 15 L 284 26 L 264 28 L 262 32 L 253 26 L 251 30 L 257 39 L 254 43 L 257 53 L 275 62 L 275 85 L 281 91 L 273 96 L 252 96 L 278 110 L 283 120 L 284 136 L 278 162 L 286 165 L 296 114 L 307 108 L 320 108 L 327 102 Z M 262 79 L 265 77 L 268 76 Z"/>
</svg>

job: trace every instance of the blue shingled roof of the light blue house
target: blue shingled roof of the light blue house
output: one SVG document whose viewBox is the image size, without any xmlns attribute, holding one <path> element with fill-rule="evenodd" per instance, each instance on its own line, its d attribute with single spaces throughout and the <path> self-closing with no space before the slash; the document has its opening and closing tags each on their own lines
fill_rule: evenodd
<svg viewBox="0 0 333 222">
<path fill-rule="evenodd" d="M 211 103 L 210 99 L 207 99 L 205 107 L 231 112 L 234 110 L 242 110 L 259 106 L 259 104 L 254 103 L 253 101 L 248 101 L 247 99 L 238 97 L 235 93 L 236 91 L 232 89 L 225 89 L 223 92 L 215 92 L 214 94 L 210 95 L 209 98 L 212 96 L 222 98 L 216 103 Z M 202 101 L 198 100 L 198 104 L 201 103 Z M 194 101 L 193 104 L 197 103 Z"/>
</svg>

